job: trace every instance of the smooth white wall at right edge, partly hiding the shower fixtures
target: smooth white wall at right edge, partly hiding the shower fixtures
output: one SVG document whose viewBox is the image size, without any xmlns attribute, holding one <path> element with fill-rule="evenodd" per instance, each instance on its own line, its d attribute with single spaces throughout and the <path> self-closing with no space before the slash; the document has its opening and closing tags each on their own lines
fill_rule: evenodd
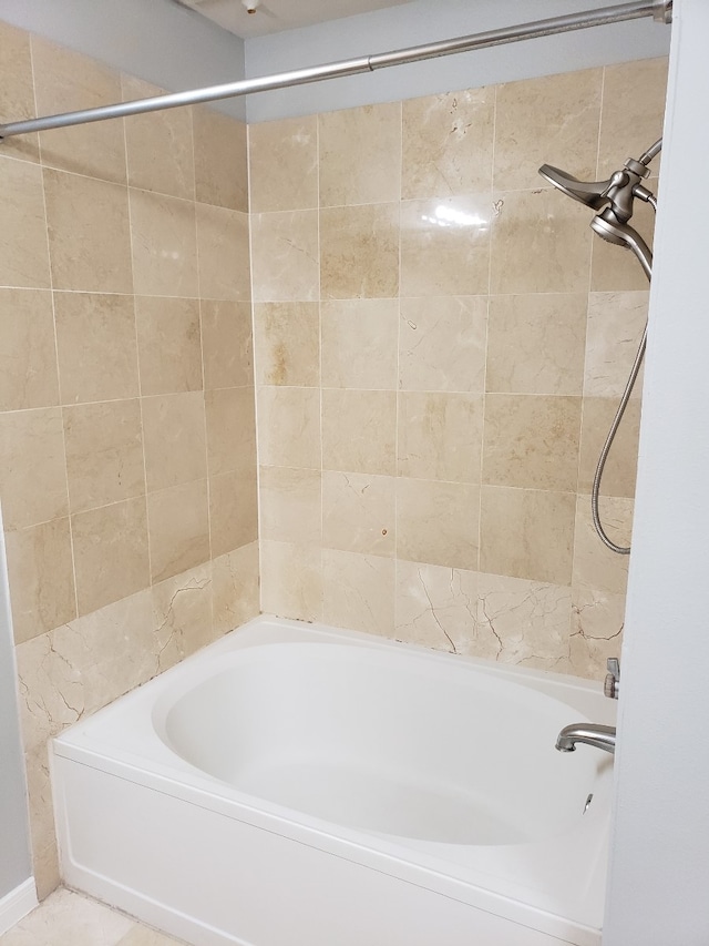
<svg viewBox="0 0 709 946">
<path fill-rule="evenodd" d="M 708 49 L 676 0 L 604 946 L 709 944 Z"/>
</svg>

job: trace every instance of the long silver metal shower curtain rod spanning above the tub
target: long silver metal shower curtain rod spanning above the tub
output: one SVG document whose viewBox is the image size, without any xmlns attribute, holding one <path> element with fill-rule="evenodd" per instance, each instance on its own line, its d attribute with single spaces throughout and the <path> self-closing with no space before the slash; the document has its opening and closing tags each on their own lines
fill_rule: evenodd
<svg viewBox="0 0 709 946">
<path fill-rule="evenodd" d="M 124 115 L 140 115 L 145 112 L 157 112 L 163 109 L 177 109 L 182 105 L 195 105 L 201 102 L 215 102 L 219 99 L 234 99 L 249 95 L 254 92 L 269 92 L 276 89 L 288 89 L 292 85 L 304 85 L 308 82 L 319 82 L 322 79 L 338 79 L 343 75 L 357 75 L 362 72 L 373 72 L 389 65 L 405 65 L 440 55 L 452 55 L 458 52 L 470 52 L 476 49 L 502 45 L 540 37 L 551 37 L 572 30 L 585 30 L 590 27 L 602 27 L 608 23 L 619 23 L 625 20 L 637 20 L 653 17 L 664 23 L 670 23 L 672 18 L 672 0 L 636 0 L 633 3 L 620 3 L 615 7 L 604 7 L 599 10 L 588 10 L 583 13 L 567 13 L 547 20 L 535 20 L 516 27 L 503 27 L 484 33 L 473 33 L 458 39 L 427 45 L 409 47 L 392 52 L 381 52 L 360 59 L 348 59 L 331 62 L 326 65 L 315 65 L 309 69 L 298 69 L 292 72 L 280 72 L 276 75 L 264 75 L 258 79 L 243 79 L 224 85 L 212 85 L 207 89 L 195 89 L 188 92 L 174 92 L 167 95 L 156 95 L 152 99 L 138 99 L 133 102 L 122 102 L 116 105 L 102 105 L 96 109 L 84 109 L 78 112 L 64 112 L 60 115 L 48 115 L 41 119 L 29 119 L 21 122 L 0 124 L 0 140 L 17 134 L 29 134 L 35 131 L 80 125 L 88 122 L 101 122 L 106 119 L 120 119 Z"/>
</svg>

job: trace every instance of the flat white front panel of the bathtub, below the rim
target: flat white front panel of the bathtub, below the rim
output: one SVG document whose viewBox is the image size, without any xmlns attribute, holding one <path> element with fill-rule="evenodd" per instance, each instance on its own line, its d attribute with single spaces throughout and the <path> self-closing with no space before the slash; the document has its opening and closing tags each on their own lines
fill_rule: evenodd
<svg viewBox="0 0 709 946">
<path fill-rule="evenodd" d="M 599 946 L 105 772 L 54 760 L 64 882 L 195 946 Z M 395 868 L 397 865 L 390 865 Z M 421 879 L 424 879 L 423 877 Z M 526 920 L 526 923 L 524 922 Z"/>
</svg>

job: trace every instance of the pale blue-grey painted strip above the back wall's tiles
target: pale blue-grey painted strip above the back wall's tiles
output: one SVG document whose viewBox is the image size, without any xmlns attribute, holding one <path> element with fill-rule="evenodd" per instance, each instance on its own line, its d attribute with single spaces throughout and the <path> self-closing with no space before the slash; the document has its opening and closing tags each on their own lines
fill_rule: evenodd
<svg viewBox="0 0 709 946">
<path fill-rule="evenodd" d="M 614 0 L 417 0 L 247 40 L 246 75 L 250 79 L 609 6 Z M 264 92 L 248 98 L 247 119 L 270 121 L 650 59 L 667 54 L 669 32 L 651 19 L 636 20 Z"/>
</svg>

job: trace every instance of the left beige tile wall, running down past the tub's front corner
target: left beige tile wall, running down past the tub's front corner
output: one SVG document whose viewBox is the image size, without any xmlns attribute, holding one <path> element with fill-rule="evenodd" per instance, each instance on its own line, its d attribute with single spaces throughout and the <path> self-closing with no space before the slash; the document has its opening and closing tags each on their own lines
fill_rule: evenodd
<svg viewBox="0 0 709 946">
<path fill-rule="evenodd" d="M 3 120 L 158 90 L 0 24 Z M 47 740 L 258 612 L 246 129 L 0 149 L 0 497 L 40 894 Z"/>
</svg>

